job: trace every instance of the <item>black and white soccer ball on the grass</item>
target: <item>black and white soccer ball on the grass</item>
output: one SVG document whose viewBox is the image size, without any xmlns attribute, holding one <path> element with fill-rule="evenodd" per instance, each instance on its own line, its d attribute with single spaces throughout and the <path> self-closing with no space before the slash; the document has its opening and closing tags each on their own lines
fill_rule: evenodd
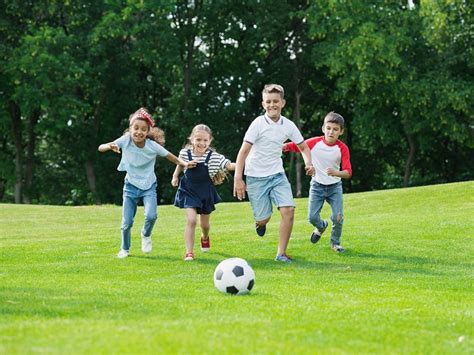
<svg viewBox="0 0 474 355">
<path fill-rule="evenodd" d="M 225 259 L 214 271 L 214 286 L 224 293 L 245 295 L 253 288 L 255 272 L 241 258 Z"/>
</svg>

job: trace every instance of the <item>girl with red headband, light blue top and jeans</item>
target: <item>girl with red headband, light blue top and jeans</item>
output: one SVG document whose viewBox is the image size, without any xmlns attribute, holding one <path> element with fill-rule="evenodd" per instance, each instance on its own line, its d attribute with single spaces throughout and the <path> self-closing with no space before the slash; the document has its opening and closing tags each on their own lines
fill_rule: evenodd
<svg viewBox="0 0 474 355">
<path fill-rule="evenodd" d="M 185 162 L 178 159 L 156 143 L 155 139 L 158 140 L 157 137 L 160 137 L 161 133 L 158 130 L 152 133 L 153 126 L 151 115 L 145 108 L 140 108 L 130 115 L 129 132 L 113 142 L 99 146 L 99 152 L 112 150 L 120 153 L 122 151 L 117 170 L 127 172 L 123 186 L 122 246 L 117 255 L 119 259 L 126 258 L 130 254 L 131 230 L 139 200 L 143 200 L 145 209 L 145 223 L 141 231 L 142 251 L 150 253 L 152 250 L 151 232 L 157 218 L 156 157 L 165 157 L 185 168 L 193 168 L 196 165 L 192 161 Z"/>
</svg>

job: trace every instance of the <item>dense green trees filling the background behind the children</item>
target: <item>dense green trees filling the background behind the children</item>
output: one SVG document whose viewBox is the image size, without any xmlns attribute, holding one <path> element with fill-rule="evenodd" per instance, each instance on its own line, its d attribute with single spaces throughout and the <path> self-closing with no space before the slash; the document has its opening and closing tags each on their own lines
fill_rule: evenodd
<svg viewBox="0 0 474 355">
<path fill-rule="evenodd" d="M 473 179 L 472 13 L 464 0 L 1 2 L 3 201 L 32 172 L 30 201 L 119 204 L 117 157 L 97 146 L 140 106 L 174 154 L 205 123 L 235 160 L 268 82 L 286 88 L 305 137 L 327 112 L 345 117 L 351 191 Z M 157 166 L 165 203 L 172 171 Z M 219 192 L 233 199 L 229 184 Z"/>
</svg>

